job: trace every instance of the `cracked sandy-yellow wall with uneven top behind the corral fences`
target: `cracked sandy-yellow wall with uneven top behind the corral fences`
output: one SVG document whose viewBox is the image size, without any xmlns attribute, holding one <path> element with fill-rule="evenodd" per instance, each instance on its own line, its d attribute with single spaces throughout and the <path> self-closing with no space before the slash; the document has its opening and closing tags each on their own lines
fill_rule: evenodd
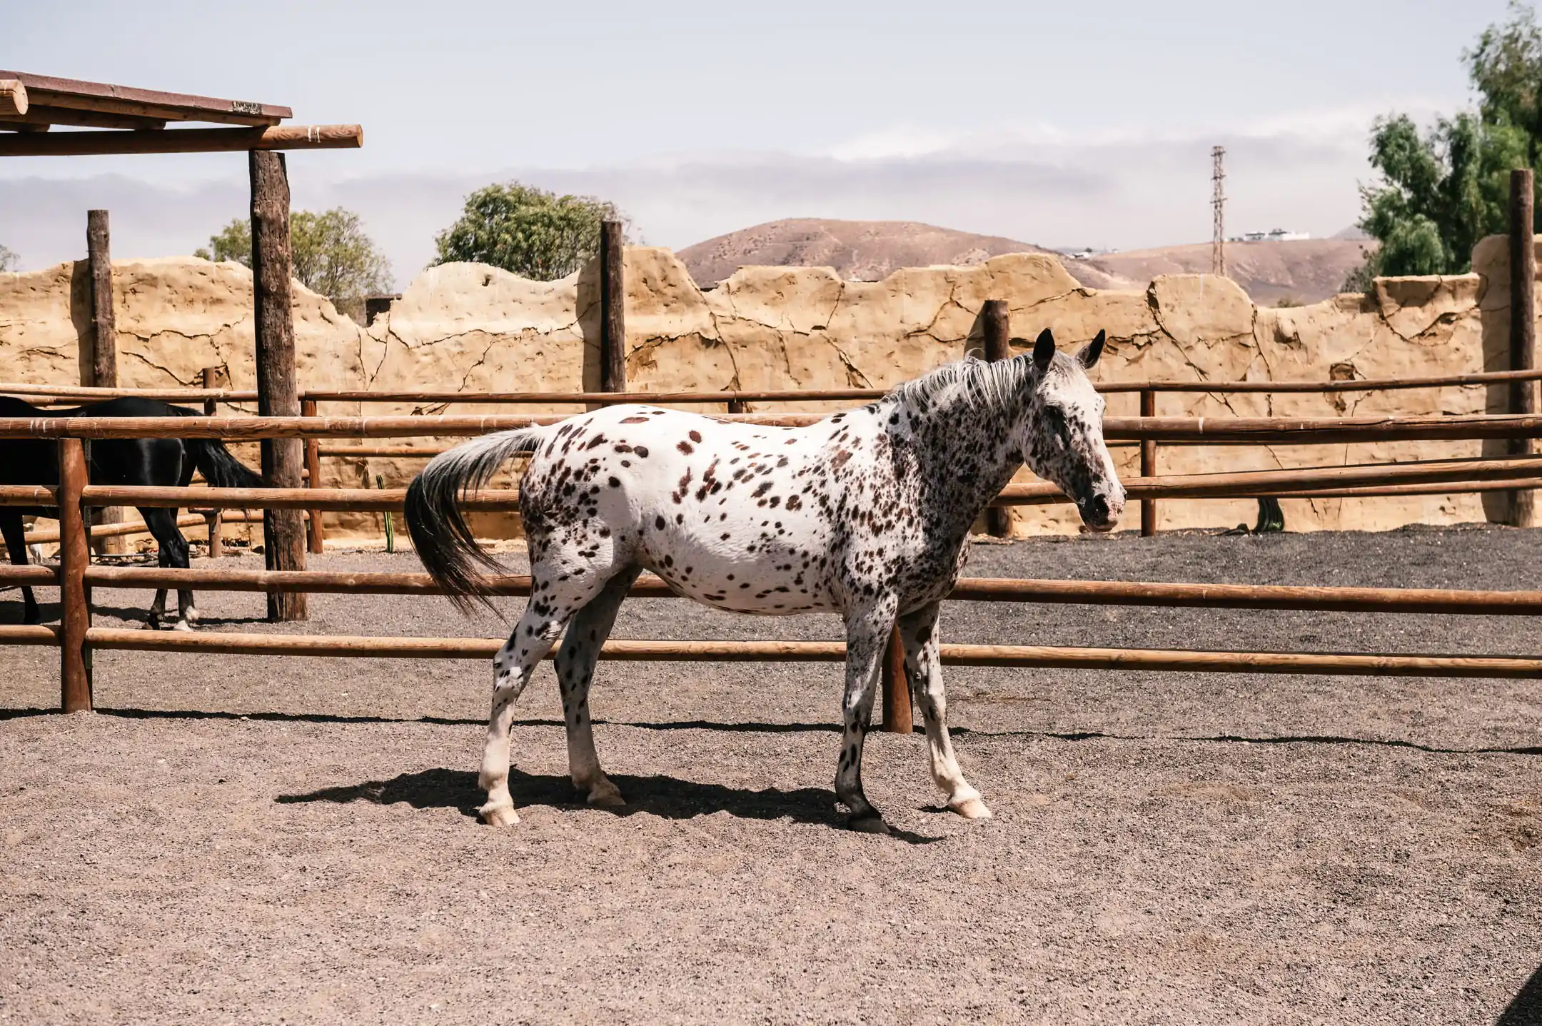
<svg viewBox="0 0 1542 1026">
<path fill-rule="evenodd" d="M 1342 295 L 1291 309 L 1260 309 L 1227 279 L 1158 278 L 1138 290 L 1090 290 L 1045 255 L 998 256 L 975 267 L 899 270 L 884 281 L 843 281 L 828 268 L 746 267 L 703 292 L 668 250 L 629 248 L 628 381 L 638 390 L 885 387 L 981 346 L 979 310 L 1005 299 L 1015 336 L 1052 327 L 1062 346 L 1107 330 L 1103 380 L 1397 378 L 1502 369 L 1507 361 L 1502 239 L 1474 251 L 1476 273 L 1382 279 L 1368 296 Z M 85 265 L 0 275 L 0 381 L 79 381 L 86 327 Z M 236 264 L 193 258 L 119 261 L 119 373 L 125 386 L 193 386 L 207 366 L 234 387 L 254 387 L 251 276 Z M 574 392 L 598 386 L 598 281 L 594 268 L 555 282 L 450 264 L 424 272 L 387 315 L 361 329 L 324 298 L 296 287 L 296 346 L 305 389 L 399 392 Z M 1497 327 L 1496 327 L 1497 326 Z M 1465 413 L 1503 407 L 1502 389 L 1433 389 L 1335 395 L 1164 393 L 1170 415 Z M 839 403 L 765 409 L 828 410 Z M 439 412 L 426 404 L 370 404 L 367 412 Z M 524 407 L 571 412 L 577 407 Z M 725 407 L 708 407 L 725 409 Z M 1110 413 L 1136 398 L 1112 395 Z M 456 404 L 455 412 L 510 407 Z M 328 406 L 350 413 L 358 407 Z M 449 440 L 423 440 L 426 447 Z M 350 443 L 335 443 L 344 447 Z M 1477 455 L 1479 443 L 1163 447 L 1163 472 L 1323 466 Z M 1133 474 L 1133 447 L 1116 451 Z M 251 457 L 254 461 L 254 457 Z M 324 460 L 324 483 L 401 484 L 418 458 Z M 1497 500 L 1491 500 L 1497 501 Z M 1479 497 L 1288 500 L 1291 529 L 1386 529 L 1497 517 Z M 1252 521 L 1252 501 L 1172 501 L 1163 528 Z M 1130 517 L 1133 518 L 1132 509 Z M 1073 531 L 1067 508 L 1015 512 L 1019 531 Z M 344 534 L 375 532 L 379 518 L 339 518 Z M 481 521 L 509 532 L 509 518 Z"/>
</svg>

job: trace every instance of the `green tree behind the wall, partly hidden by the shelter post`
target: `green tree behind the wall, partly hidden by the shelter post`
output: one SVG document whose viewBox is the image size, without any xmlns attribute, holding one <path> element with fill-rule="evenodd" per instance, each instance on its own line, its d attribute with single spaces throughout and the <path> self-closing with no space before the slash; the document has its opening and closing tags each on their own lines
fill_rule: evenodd
<svg viewBox="0 0 1542 1026">
<path fill-rule="evenodd" d="M 356 321 L 364 315 L 364 296 L 390 289 L 390 261 L 365 235 L 352 210 L 335 207 L 319 214 L 296 210 L 290 214 L 290 247 L 295 279 L 332 299 Z M 231 221 L 210 236 L 208 248 L 193 255 L 251 267 L 251 222 L 244 218 Z"/>
</svg>

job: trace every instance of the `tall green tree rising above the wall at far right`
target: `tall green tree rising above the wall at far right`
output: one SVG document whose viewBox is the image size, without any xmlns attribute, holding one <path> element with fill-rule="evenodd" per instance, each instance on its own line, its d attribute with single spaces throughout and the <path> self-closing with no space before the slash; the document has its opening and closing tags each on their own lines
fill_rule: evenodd
<svg viewBox="0 0 1542 1026">
<path fill-rule="evenodd" d="M 1471 268 L 1473 247 L 1508 227 L 1510 171 L 1542 154 L 1542 31 L 1530 6 L 1511 0 L 1463 54 L 1477 111 L 1442 117 L 1428 131 L 1406 114 L 1377 119 L 1371 167 L 1380 181 L 1360 188 L 1360 227 L 1380 245 L 1346 287 L 1374 275 L 1454 275 Z"/>
</svg>

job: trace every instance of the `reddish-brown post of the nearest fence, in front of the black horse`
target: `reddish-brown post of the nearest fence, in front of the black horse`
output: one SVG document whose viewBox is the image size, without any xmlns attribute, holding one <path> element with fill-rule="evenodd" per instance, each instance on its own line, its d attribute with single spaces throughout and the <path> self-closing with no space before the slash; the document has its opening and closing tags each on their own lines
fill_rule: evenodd
<svg viewBox="0 0 1542 1026">
<path fill-rule="evenodd" d="M 80 492 L 86 486 L 86 452 L 79 438 L 59 440 L 59 705 L 66 713 L 91 711 L 91 600 L 86 594 L 86 566 L 91 543 L 86 537 Z"/>
</svg>

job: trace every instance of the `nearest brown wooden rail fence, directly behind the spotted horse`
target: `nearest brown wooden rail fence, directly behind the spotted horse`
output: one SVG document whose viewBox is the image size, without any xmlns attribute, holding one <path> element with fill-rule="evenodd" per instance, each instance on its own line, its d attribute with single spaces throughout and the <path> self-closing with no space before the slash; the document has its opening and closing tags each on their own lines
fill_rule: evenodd
<svg viewBox="0 0 1542 1026">
<path fill-rule="evenodd" d="M 806 423 L 808 415 L 729 415 L 768 424 Z M 393 511 L 402 491 L 369 489 L 217 489 L 117 488 L 86 481 L 82 440 L 133 437 L 202 437 L 247 441 L 256 438 L 399 438 L 452 437 L 547 423 L 555 417 L 242 417 L 242 418 L 39 418 L 0 420 L 0 438 L 57 438 L 57 488 L 0 486 L 0 505 L 57 506 L 60 565 L 0 568 L 0 585 L 57 585 L 62 617 L 57 626 L 0 626 L 0 643 L 48 645 L 60 651 L 60 705 L 66 711 L 91 708 L 91 653 L 94 650 L 183 651 L 282 656 L 381 656 L 463 659 L 490 656 L 501 639 L 443 637 L 316 637 L 301 634 L 153 633 L 91 626 L 93 586 L 200 588 L 225 591 L 433 594 L 423 574 L 338 574 L 322 571 L 150 569 L 91 566 L 88 517 L 91 506 L 174 506 L 311 511 Z M 1437 418 L 1110 418 L 1110 437 L 1152 441 L 1289 441 L 1340 443 L 1379 440 L 1466 440 L 1542 435 L 1542 417 L 1474 415 Z M 1132 498 L 1247 497 L 1257 494 L 1334 494 L 1352 489 L 1440 488 L 1479 491 L 1514 489 L 1542 483 L 1542 457 L 1508 460 L 1431 460 L 1385 466 L 1332 466 L 1297 471 L 1249 471 L 1190 477 L 1136 477 Z M 315 483 L 315 481 L 313 481 Z M 1044 484 L 1013 484 L 1001 503 L 1055 501 Z M 473 509 L 517 509 L 515 489 L 492 489 L 466 497 Z M 313 521 L 319 514 L 313 514 Z M 497 582 L 500 594 L 527 594 L 529 579 Z M 634 594 L 672 594 L 657 579 L 641 579 Z M 1141 582 L 961 580 L 954 599 L 993 602 L 1078 602 L 1095 605 L 1178 605 L 1195 608 L 1260 608 L 1362 613 L 1451 613 L 1536 616 L 1542 592 L 1479 592 L 1369 588 L 1278 588 L 1246 585 L 1158 585 Z M 839 660 L 837 642 L 608 642 L 608 659 L 648 660 Z M 1217 673 L 1325 673 L 1372 676 L 1537 677 L 1542 659 L 1530 656 L 1440 656 L 1363 653 L 1212 653 L 1161 650 L 1059 648 L 1027 645 L 944 645 L 944 662 L 978 667 L 1056 667 L 1119 670 L 1183 670 Z M 884 671 L 884 724 L 908 731 L 910 690 L 897 645 L 890 645 Z"/>
</svg>

